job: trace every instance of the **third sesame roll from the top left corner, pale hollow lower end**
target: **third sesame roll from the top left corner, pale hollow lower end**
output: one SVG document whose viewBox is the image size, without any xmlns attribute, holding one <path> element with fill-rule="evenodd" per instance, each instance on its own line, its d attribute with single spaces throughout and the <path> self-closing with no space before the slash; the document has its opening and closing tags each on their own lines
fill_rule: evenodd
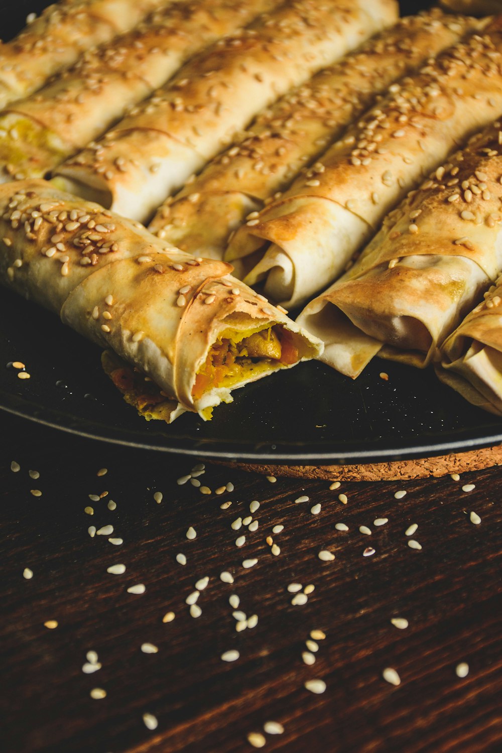
<svg viewBox="0 0 502 753">
<path fill-rule="evenodd" d="M 56 171 L 61 187 L 147 221 L 254 114 L 396 18 L 394 0 L 297 0 L 187 62 Z M 58 180 L 59 180 L 58 178 Z"/>
</svg>

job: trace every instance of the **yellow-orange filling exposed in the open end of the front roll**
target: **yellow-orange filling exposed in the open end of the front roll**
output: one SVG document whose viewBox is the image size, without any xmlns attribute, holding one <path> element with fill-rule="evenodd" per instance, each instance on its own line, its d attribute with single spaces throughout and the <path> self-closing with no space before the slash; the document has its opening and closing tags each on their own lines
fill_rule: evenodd
<svg viewBox="0 0 502 753">
<path fill-rule="evenodd" d="M 194 400 L 216 387 L 231 388 L 270 368 L 297 363 L 293 334 L 282 325 L 252 331 L 224 331 L 213 343 L 192 389 Z"/>
</svg>

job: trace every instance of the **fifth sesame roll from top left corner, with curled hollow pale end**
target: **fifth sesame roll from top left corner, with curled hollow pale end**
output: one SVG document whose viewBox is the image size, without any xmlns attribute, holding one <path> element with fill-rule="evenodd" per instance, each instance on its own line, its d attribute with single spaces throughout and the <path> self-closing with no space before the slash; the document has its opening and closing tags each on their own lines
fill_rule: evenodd
<svg viewBox="0 0 502 753">
<path fill-rule="evenodd" d="M 265 294 L 286 308 L 337 279 L 407 191 L 500 114 L 501 49 L 502 16 L 392 84 L 315 166 L 237 230 L 225 255 L 236 275 L 248 285 L 263 281 Z"/>
</svg>

